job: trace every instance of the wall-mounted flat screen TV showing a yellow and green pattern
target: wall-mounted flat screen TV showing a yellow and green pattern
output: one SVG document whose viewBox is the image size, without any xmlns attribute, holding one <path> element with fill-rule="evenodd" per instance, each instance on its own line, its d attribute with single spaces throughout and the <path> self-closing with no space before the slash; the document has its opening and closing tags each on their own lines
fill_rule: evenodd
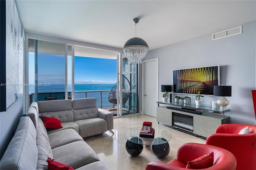
<svg viewBox="0 0 256 170">
<path fill-rule="evenodd" d="M 172 70 L 173 92 L 213 95 L 213 86 L 220 85 L 220 66 Z"/>
</svg>

